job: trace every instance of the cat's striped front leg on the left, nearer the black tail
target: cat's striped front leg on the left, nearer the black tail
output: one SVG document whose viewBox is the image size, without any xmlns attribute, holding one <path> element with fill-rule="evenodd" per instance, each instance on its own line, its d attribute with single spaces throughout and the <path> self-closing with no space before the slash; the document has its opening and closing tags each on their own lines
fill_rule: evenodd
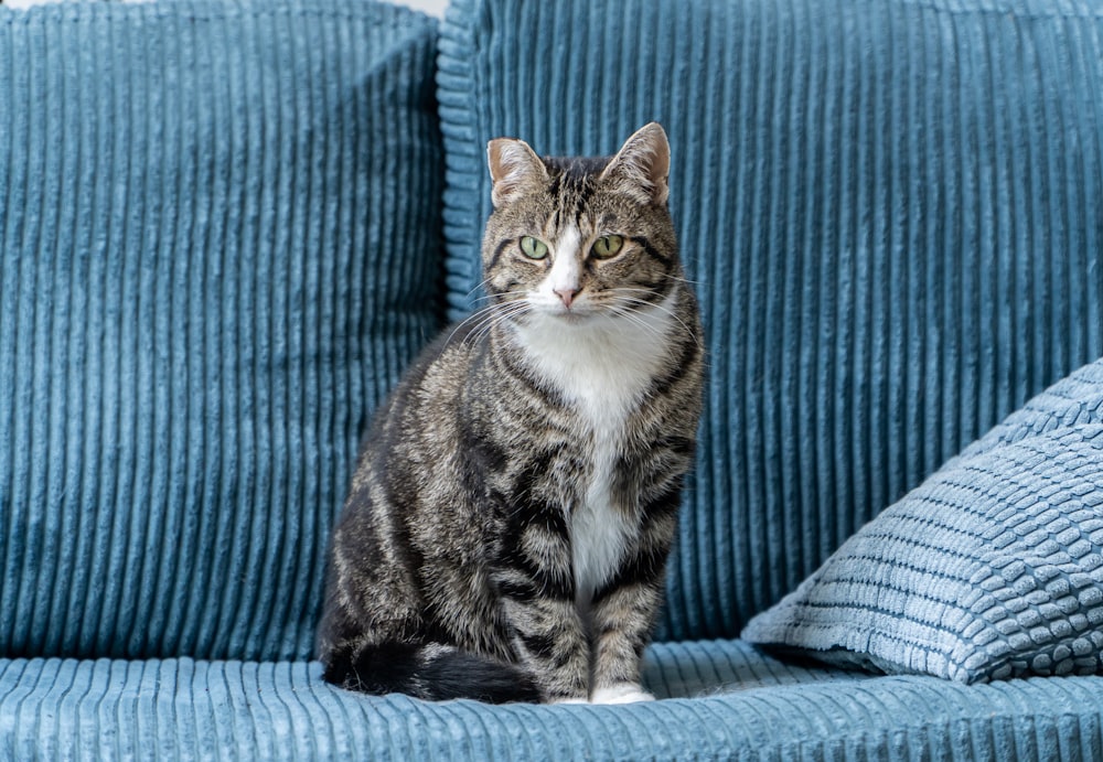
<svg viewBox="0 0 1103 762">
<path fill-rule="evenodd" d="M 517 527 L 494 578 L 517 661 L 528 668 L 544 700 L 586 701 L 589 647 L 575 605 L 566 524 L 559 517 L 549 512 Z"/>
</svg>

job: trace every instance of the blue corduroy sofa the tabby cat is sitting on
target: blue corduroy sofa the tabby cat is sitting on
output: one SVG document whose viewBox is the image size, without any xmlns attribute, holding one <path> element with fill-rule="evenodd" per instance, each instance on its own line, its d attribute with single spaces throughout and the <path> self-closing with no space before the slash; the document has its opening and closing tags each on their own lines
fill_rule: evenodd
<svg viewBox="0 0 1103 762">
<path fill-rule="evenodd" d="M 1093 674 L 740 640 L 1103 355 L 1101 95 L 1090 0 L 0 7 L 0 759 L 1103 758 Z M 603 154 L 652 119 L 710 354 L 661 700 L 324 684 L 328 533 L 371 411 L 478 297 L 485 141 Z M 1094 426 L 1072 401 L 1036 428 Z"/>
</svg>

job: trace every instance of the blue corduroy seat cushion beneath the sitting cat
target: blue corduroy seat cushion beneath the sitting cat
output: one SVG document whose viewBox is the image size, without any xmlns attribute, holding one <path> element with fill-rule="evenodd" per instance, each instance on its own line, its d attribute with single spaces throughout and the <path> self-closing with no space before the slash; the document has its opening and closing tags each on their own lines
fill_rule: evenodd
<svg viewBox="0 0 1103 762">
<path fill-rule="evenodd" d="M 319 672 L 0 661 L 0 758 L 1090 759 L 1103 706 L 1099 677 L 869 677 L 786 666 L 739 641 L 654 646 L 651 687 L 678 698 L 620 707 L 364 697 Z"/>
</svg>

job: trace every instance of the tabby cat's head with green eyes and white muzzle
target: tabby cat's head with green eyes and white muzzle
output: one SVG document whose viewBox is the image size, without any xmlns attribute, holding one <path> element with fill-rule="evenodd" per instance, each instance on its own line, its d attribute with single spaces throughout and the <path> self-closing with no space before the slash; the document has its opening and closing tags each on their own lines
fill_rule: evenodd
<svg viewBox="0 0 1103 762">
<path fill-rule="evenodd" d="M 542 159 L 511 138 L 491 140 L 486 153 L 494 212 L 483 285 L 497 309 L 579 322 L 631 315 L 676 288 L 661 126 L 641 128 L 612 159 Z"/>
</svg>

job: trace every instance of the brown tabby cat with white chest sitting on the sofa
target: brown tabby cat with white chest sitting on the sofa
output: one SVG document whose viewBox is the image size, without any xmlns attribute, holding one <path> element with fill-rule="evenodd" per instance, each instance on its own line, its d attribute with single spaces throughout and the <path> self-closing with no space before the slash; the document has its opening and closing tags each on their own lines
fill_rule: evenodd
<svg viewBox="0 0 1103 762">
<path fill-rule="evenodd" d="M 332 538 L 324 679 L 429 700 L 653 698 L 705 353 L 652 122 L 612 159 L 490 141 L 489 307 L 377 411 Z"/>
</svg>

